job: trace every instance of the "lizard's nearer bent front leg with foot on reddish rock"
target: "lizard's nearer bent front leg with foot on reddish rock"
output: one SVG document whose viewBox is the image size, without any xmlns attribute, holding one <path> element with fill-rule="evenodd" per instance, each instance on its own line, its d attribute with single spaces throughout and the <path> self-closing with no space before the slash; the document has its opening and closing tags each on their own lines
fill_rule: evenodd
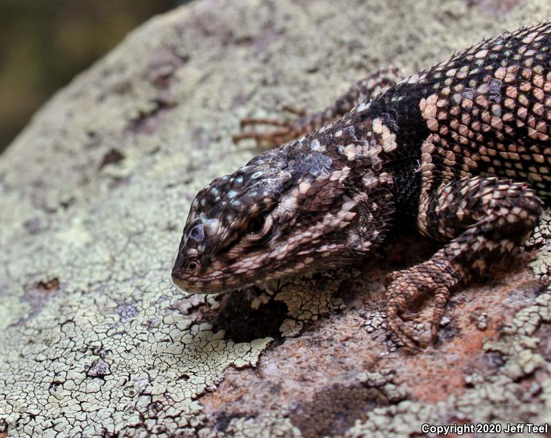
<svg viewBox="0 0 551 438">
<path fill-rule="evenodd" d="M 432 194 L 422 192 L 417 227 L 426 236 L 449 242 L 430 260 L 395 274 L 387 289 L 388 328 L 409 348 L 429 344 L 401 314 L 418 298 L 433 293 L 435 342 L 450 290 L 518 247 L 534 228 L 541 205 L 526 184 L 498 178 L 466 176 L 441 183 Z"/>
</svg>

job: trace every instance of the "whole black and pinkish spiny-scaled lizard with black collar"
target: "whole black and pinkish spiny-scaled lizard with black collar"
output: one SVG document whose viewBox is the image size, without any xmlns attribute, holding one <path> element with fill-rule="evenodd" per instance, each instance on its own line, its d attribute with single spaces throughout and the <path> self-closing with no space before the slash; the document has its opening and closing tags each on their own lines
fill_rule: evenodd
<svg viewBox="0 0 551 438">
<path fill-rule="evenodd" d="M 393 76 L 324 112 L 245 119 L 276 127 L 234 140 L 276 148 L 198 192 L 174 283 L 217 293 L 345 267 L 409 228 L 441 248 L 391 275 L 386 326 L 406 348 L 434 344 L 450 292 L 517 249 L 551 200 L 551 22 Z M 428 296 L 430 339 L 408 324 Z"/>
</svg>

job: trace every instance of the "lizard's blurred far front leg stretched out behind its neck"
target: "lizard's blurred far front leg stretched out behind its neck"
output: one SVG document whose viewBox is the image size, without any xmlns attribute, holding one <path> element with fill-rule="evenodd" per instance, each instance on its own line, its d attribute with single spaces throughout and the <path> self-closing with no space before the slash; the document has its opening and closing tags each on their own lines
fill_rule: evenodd
<svg viewBox="0 0 551 438">
<path fill-rule="evenodd" d="M 245 118 L 241 121 L 241 129 L 246 126 L 271 125 L 279 129 L 271 132 L 258 132 L 253 130 L 233 136 L 233 142 L 238 143 L 246 138 L 254 138 L 259 145 L 276 147 L 289 140 L 294 140 L 315 131 L 326 123 L 344 116 L 353 107 L 360 103 L 371 101 L 385 88 L 395 85 L 398 79 L 396 67 L 388 67 L 384 70 L 377 70 L 362 81 L 355 83 L 346 94 L 337 98 L 337 101 L 322 112 L 307 113 L 302 110 L 295 110 L 292 107 L 284 107 L 284 110 L 297 114 L 299 117 L 294 120 L 282 121 L 275 118 Z"/>
</svg>

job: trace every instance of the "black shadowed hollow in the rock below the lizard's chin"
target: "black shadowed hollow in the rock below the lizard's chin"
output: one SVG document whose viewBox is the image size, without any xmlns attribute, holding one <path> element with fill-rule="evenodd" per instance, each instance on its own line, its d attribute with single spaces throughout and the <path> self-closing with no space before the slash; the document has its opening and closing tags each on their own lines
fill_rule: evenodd
<svg viewBox="0 0 551 438">
<path fill-rule="evenodd" d="M 270 300 L 258 309 L 251 308 L 258 289 L 249 288 L 222 295 L 220 309 L 202 309 L 200 322 L 212 324 L 213 330 L 224 330 L 233 342 L 251 342 L 260 337 L 281 339 L 280 326 L 287 317 L 287 305 Z"/>
</svg>

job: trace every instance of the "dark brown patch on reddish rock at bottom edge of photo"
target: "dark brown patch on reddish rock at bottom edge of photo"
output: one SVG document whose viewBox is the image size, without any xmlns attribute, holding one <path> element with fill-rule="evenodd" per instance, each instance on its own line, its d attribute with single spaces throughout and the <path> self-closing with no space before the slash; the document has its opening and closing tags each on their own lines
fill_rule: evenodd
<svg viewBox="0 0 551 438">
<path fill-rule="evenodd" d="M 377 388 L 335 384 L 318 392 L 311 401 L 291 408 L 289 419 L 306 438 L 335 436 L 357 419 L 364 421 L 371 410 L 388 404 L 386 395 Z"/>
</svg>

